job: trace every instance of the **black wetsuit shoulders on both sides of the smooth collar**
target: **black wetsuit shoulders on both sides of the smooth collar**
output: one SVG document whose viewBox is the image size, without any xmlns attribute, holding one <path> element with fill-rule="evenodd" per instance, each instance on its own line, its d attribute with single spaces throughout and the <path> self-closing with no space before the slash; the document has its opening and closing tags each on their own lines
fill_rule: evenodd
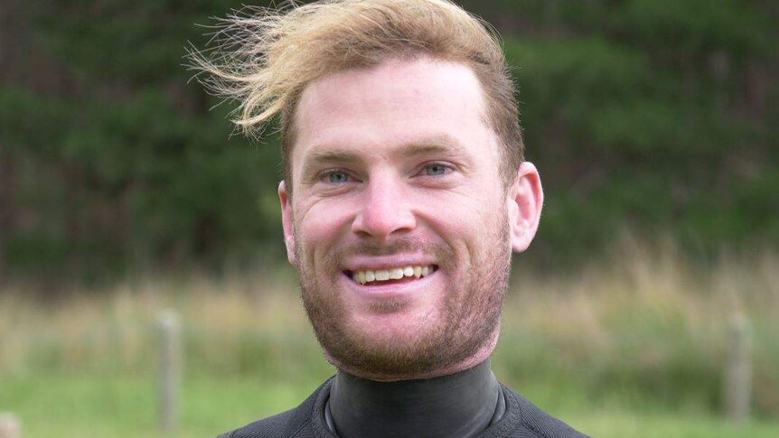
<svg viewBox="0 0 779 438">
<path fill-rule="evenodd" d="M 295 409 L 248 424 L 219 438 L 338 438 L 325 423 L 324 406 L 330 396 L 333 379 L 328 379 L 314 394 Z M 501 385 L 506 403 L 502 418 L 485 430 L 483 438 L 580 438 L 587 437 L 568 424 L 540 410 Z M 366 437 L 370 438 L 370 437 Z"/>
</svg>

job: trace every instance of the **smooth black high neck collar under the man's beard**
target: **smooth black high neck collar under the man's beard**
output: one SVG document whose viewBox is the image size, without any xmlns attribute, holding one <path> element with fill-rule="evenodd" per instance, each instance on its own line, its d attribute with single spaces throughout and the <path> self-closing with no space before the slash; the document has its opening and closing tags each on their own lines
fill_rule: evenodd
<svg viewBox="0 0 779 438">
<path fill-rule="evenodd" d="M 487 359 L 449 376 L 397 382 L 339 370 L 328 405 L 335 432 L 343 438 L 472 437 L 493 423 L 500 395 Z"/>
</svg>

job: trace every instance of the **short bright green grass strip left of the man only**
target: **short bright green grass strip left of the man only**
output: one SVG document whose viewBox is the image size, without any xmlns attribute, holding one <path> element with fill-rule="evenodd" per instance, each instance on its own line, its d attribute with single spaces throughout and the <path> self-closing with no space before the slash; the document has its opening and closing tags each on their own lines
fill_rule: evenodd
<svg viewBox="0 0 779 438">
<path fill-rule="evenodd" d="M 319 382 L 189 378 L 181 394 L 181 433 L 215 436 L 300 403 Z M 41 376 L 5 380 L 0 410 L 18 415 L 25 437 L 155 436 L 153 377 Z"/>
</svg>

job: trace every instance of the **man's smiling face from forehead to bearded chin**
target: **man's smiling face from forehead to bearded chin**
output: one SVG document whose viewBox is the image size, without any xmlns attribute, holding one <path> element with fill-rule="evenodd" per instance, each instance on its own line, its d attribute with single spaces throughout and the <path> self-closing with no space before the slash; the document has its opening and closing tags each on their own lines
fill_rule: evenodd
<svg viewBox="0 0 779 438">
<path fill-rule="evenodd" d="M 538 220 L 520 204 L 540 211 L 540 185 L 535 169 L 502 184 L 485 119 L 459 63 L 388 61 L 305 89 L 294 196 L 284 182 L 279 195 L 305 310 L 338 368 L 433 377 L 492 352 L 512 247 Z"/>
</svg>

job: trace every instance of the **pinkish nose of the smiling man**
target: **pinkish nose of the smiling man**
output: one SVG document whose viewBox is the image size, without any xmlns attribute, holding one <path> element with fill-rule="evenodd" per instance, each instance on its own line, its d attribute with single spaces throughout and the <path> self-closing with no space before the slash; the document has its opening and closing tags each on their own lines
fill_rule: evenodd
<svg viewBox="0 0 779 438">
<path fill-rule="evenodd" d="M 352 232 L 386 241 L 393 233 L 410 231 L 417 226 L 403 183 L 397 177 L 372 178 L 363 196 L 362 208 L 352 222 Z"/>
</svg>

